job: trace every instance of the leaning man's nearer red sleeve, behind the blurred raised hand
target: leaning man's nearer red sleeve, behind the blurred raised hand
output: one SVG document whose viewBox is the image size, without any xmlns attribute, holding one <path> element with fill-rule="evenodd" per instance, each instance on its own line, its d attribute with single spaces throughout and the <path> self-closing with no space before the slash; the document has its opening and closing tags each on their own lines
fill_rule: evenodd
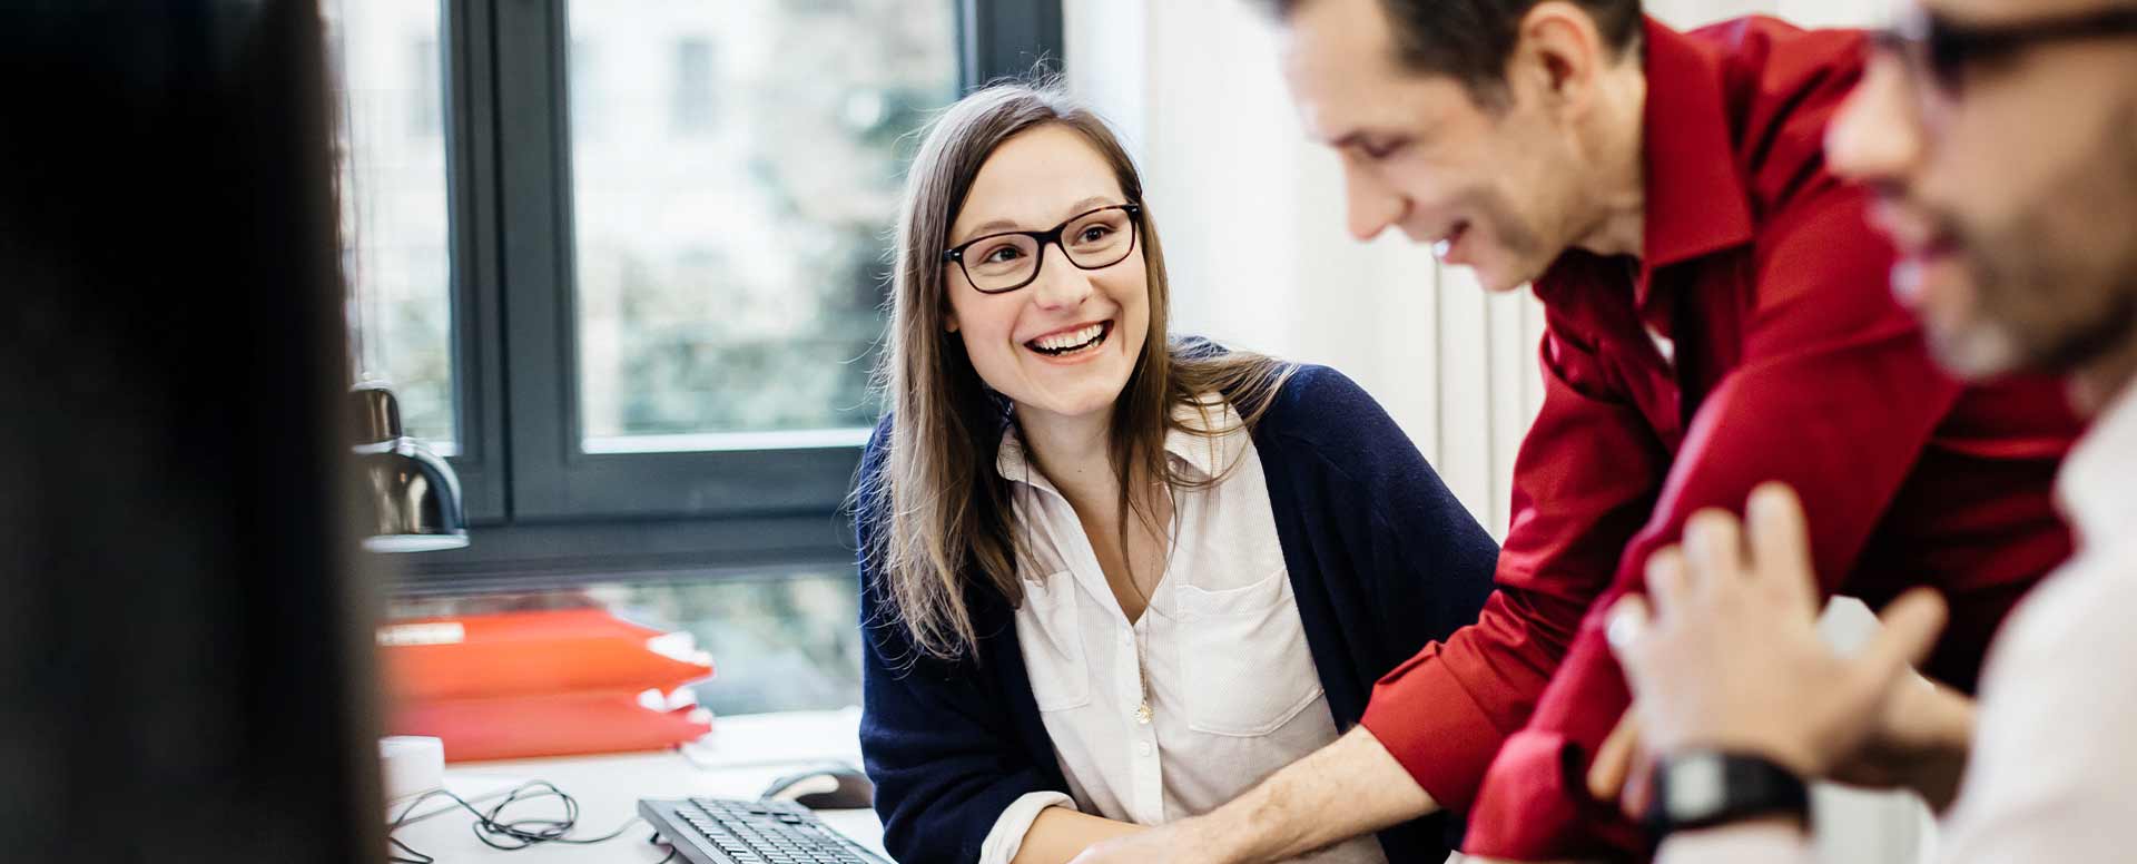
<svg viewBox="0 0 2137 864">
<path fill-rule="evenodd" d="M 1744 325 L 1742 361 L 1699 406 L 1645 524 L 1622 533 L 1616 520 L 1558 518 L 1556 530 L 1545 524 L 1507 539 L 1530 582 L 1579 590 L 1607 580 L 1609 588 L 1590 605 L 1530 725 L 1492 763 L 1470 813 L 1468 851 L 1558 860 L 1635 849 L 1633 828 L 1592 802 L 1581 783 L 1590 755 L 1628 704 L 1603 642 L 1603 610 L 1641 590 L 1648 554 L 1675 543 L 1690 513 L 1742 511 L 1750 490 L 1769 479 L 1804 498 L 1821 588 L 1831 592 L 1957 402 L 1960 385 L 1936 370 L 1917 323 L 1891 302 L 1891 252 L 1863 229 L 1863 205 L 1859 190 L 1836 186 L 1776 214 L 1761 231 L 1752 252 L 1757 308 Z M 1605 449 L 1616 436 L 1605 426 L 1596 443 L 1586 434 L 1566 438 L 1554 447 L 1556 458 L 1539 453 L 1530 468 L 1571 477 L 1551 494 L 1628 488 L 1645 462 L 1628 464 Z M 1622 498 L 1594 507 L 1616 513 Z M 1609 547 L 1622 547 L 1622 556 L 1601 556 Z"/>
</svg>

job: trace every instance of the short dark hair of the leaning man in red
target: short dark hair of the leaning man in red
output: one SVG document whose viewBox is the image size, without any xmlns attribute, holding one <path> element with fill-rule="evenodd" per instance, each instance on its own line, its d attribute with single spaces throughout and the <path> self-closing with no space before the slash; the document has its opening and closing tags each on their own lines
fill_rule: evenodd
<svg viewBox="0 0 2137 864">
<path fill-rule="evenodd" d="M 1257 0 L 1289 19 L 1312 0 Z M 1395 62 L 1419 75 L 1453 75 L 1487 101 L 1507 83 L 1507 60 L 1522 17 L 1541 0 L 1381 0 L 1395 38 Z M 1573 0 L 1596 21 L 1603 41 L 1624 53 L 1639 47 L 1639 0 Z"/>
</svg>

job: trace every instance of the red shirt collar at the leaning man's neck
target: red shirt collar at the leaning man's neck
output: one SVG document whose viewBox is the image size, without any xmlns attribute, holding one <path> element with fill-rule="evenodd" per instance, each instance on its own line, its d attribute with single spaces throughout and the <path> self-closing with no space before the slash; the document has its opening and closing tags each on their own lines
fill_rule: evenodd
<svg viewBox="0 0 2137 864">
<path fill-rule="evenodd" d="M 1643 126 L 1645 242 L 1635 299 L 1650 274 L 1752 240 L 1750 197 L 1737 173 L 1722 58 L 1648 19 Z"/>
</svg>

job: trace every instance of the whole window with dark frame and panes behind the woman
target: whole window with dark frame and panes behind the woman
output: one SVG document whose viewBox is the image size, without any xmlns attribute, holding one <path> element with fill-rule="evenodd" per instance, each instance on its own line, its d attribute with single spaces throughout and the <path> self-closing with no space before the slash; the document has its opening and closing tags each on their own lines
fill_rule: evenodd
<svg viewBox="0 0 2137 864">
<path fill-rule="evenodd" d="M 910 133 L 1060 2 L 323 4 L 357 366 L 472 518 L 402 592 L 851 592 Z"/>
</svg>

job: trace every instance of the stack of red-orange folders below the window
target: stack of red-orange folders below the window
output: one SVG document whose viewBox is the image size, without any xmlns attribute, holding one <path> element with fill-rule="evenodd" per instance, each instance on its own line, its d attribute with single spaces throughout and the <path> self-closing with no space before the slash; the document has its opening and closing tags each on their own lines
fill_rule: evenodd
<svg viewBox="0 0 2137 864">
<path fill-rule="evenodd" d="M 688 633 L 605 610 L 400 620 L 378 631 L 387 731 L 447 761 L 658 751 L 712 731 L 684 684 L 712 676 Z"/>
</svg>

